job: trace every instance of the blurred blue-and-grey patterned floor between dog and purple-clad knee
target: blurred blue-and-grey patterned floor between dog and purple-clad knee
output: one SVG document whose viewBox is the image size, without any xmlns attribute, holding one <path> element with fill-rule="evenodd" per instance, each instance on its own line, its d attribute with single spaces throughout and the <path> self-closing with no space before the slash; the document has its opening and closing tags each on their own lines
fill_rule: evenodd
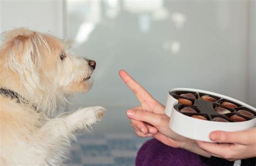
<svg viewBox="0 0 256 166">
<path fill-rule="evenodd" d="M 134 165 L 138 149 L 149 138 L 134 134 L 92 134 L 78 136 L 72 144 L 70 165 Z"/>
</svg>

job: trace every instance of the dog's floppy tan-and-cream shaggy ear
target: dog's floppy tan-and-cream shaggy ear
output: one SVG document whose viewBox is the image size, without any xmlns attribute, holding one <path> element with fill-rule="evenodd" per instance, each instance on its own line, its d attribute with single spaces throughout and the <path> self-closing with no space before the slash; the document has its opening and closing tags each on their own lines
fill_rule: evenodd
<svg viewBox="0 0 256 166">
<path fill-rule="evenodd" d="M 49 45 L 43 34 L 28 29 L 16 29 L 5 33 L 5 55 L 9 67 L 19 75 L 35 77 L 42 69 L 43 54 L 49 54 Z M 33 75 L 31 75 L 33 73 Z"/>
</svg>

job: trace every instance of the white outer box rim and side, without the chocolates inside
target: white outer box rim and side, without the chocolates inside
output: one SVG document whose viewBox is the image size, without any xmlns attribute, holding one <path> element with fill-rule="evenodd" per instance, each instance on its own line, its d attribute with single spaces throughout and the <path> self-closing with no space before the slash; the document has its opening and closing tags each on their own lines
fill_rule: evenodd
<svg viewBox="0 0 256 166">
<path fill-rule="evenodd" d="M 209 134 L 215 130 L 223 130 L 226 132 L 237 132 L 240 130 L 256 127 L 256 118 L 252 120 L 244 121 L 244 122 L 227 123 L 227 122 L 200 120 L 200 119 L 196 119 L 196 118 L 184 115 L 174 108 L 174 106 L 178 104 L 178 100 L 173 98 L 173 96 L 170 94 L 173 91 L 188 91 L 188 92 L 198 92 L 198 93 L 209 94 L 209 95 L 217 96 L 219 98 L 224 98 L 224 99 L 233 101 L 235 103 L 238 103 L 239 105 L 242 105 L 244 107 L 254 110 L 254 112 L 256 112 L 256 109 L 250 105 L 247 105 L 244 102 L 241 102 L 239 100 L 236 100 L 218 93 L 203 91 L 200 89 L 192 89 L 192 88 L 173 88 L 171 89 L 171 91 L 169 91 L 167 96 L 165 114 L 170 117 L 169 127 L 173 130 L 173 132 L 181 136 L 184 136 L 193 140 L 212 142 L 209 139 Z"/>
</svg>

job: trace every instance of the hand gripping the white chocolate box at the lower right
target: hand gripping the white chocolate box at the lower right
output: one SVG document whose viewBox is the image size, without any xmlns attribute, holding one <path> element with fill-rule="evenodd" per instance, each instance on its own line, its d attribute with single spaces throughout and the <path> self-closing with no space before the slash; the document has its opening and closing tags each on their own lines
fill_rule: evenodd
<svg viewBox="0 0 256 166">
<path fill-rule="evenodd" d="M 217 143 L 197 143 L 212 156 L 229 161 L 256 157 L 256 127 L 240 132 L 214 131 L 210 134 L 210 139 Z"/>
</svg>

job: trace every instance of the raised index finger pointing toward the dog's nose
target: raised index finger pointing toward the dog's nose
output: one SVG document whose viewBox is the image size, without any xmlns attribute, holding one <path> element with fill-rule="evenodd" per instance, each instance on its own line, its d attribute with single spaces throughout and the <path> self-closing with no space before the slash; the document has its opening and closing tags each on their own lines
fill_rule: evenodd
<svg viewBox="0 0 256 166">
<path fill-rule="evenodd" d="M 120 77 L 124 80 L 125 84 L 133 91 L 139 101 L 145 102 L 146 100 L 152 100 L 153 97 L 146 91 L 141 85 L 138 84 L 128 73 L 124 70 L 119 71 Z"/>
</svg>

